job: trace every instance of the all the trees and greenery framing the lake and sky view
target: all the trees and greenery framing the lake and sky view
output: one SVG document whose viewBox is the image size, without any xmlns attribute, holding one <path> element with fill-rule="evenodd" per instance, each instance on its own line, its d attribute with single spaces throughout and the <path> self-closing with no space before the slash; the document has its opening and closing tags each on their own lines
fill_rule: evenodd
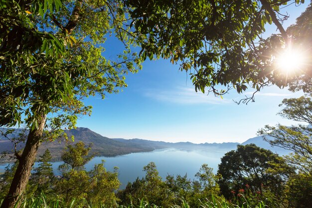
<svg viewBox="0 0 312 208">
<path fill-rule="evenodd" d="M 0 127 L 23 126 L 27 135 L 17 141 L 25 142 L 24 148 L 13 148 L 16 162 L 1 176 L 0 208 L 311 208 L 312 4 L 288 28 L 283 27 L 287 13 L 280 10 L 304 3 L 1 0 Z M 279 33 L 264 37 L 267 24 Z M 123 48 L 105 57 L 111 36 Z M 301 62 L 283 64 L 283 55 L 290 52 L 289 59 L 299 54 Z M 282 157 L 238 145 L 222 157 L 216 175 L 203 164 L 195 180 L 179 175 L 161 179 L 151 162 L 144 167 L 146 176 L 124 190 L 119 190 L 117 169 L 106 171 L 104 161 L 85 170 L 94 155 L 83 142 L 65 146 L 59 177 L 52 174 L 48 149 L 33 169 L 42 142 L 74 140 L 64 129 L 91 115 L 85 99 L 104 99 L 127 87 L 128 73 L 141 70 L 147 58 L 177 65 L 196 92 L 222 98 L 229 90 L 254 91 L 238 104 L 254 102 L 271 85 L 303 92 L 300 98 L 284 99 L 279 113 L 299 124 L 268 125 L 258 132 L 292 153 Z"/>
</svg>

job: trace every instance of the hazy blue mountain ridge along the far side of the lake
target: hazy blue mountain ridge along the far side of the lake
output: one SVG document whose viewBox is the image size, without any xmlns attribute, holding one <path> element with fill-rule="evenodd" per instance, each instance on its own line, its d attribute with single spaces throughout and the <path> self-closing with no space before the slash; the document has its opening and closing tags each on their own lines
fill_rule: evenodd
<svg viewBox="0 0 312 208">
<path fill-rule="evenodd" d="M 3 129 L 2 129 L 3 130 Z M 5 129 L 4 129 L 5 130 Z M 20 129 L 17 129 L 16 132 L 21 132 Z M 163 142 L 163 141 L 150 141 L 144 139 L 110 139 L 108 137 L 104 137 L 96 132 L 91 131 L 88 128 L 78 127 L 77 129 L 65 130 L 65 133 L 68 137 L 74 136 L 74 142 L 68 141 L 67 144 L 75 144 L 79 141 L 84 142 L 86 145 L 92 145 L 91 153 L 95 153 L 98 156 L 106 156 L 106 157 L 114 157 L 118 155 L 125 155 L 129 153 L 135 152 L 150 152 L 156 149 L 164 149 L 164 148 L 176 148 L 176 149 L 198 149 L 198 150 L 206 150 L 207 148 L 215 148 L 215 149 L 223 149 L 226 151 L 231 151 L 236 149 L 236 146 L 240 143 L 235 142 L 227 142 L 227 143 L 202 143 L 202 144 L 194 144 L 191 142 Z M 10 137 L 16 136 L 9 135 Z M 242 143 L 242 145 L 254 143 L 259 147 L 269 149 L 278 154 L 287 154 L 284 149 L 271 147 L 268 142 L 263 141 L 261 136 L 251 138 L 246 142 Z M 65 142 L 45 142 L 38 149 L 38 156 L 42 155 L 46 149 L 49 149 L 51 155 L 53 156 L 53 160 L 60 160 L 61 154 L 63 152 Z M 7 138 L 3 138 L 0 136 L 0 153 L 4 151 L 10 151 L 14 147 L 14 144 L 8 140 Z M 21 149 L 24 147 L 24 143 L 21 143 L 17 146 L 17 149 Z M 10 162 L 6 159 L 0 159 L 0 163 Z"/>
</svg>

